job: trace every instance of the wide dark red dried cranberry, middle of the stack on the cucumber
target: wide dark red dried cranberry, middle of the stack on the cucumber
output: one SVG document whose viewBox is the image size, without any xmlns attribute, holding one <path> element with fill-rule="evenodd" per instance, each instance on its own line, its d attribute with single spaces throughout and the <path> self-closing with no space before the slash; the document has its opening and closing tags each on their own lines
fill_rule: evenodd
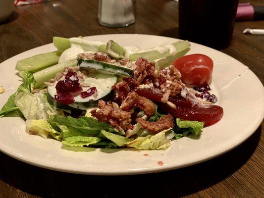
<svg viewBox="0 0 264 198">
<path fill-rule="evenodd" d="M 83 90 L 79 83 L 69 83 L 67 81 L 58 81 L 55 88 L 57 94 L 75 93 Z"/>
</svg>

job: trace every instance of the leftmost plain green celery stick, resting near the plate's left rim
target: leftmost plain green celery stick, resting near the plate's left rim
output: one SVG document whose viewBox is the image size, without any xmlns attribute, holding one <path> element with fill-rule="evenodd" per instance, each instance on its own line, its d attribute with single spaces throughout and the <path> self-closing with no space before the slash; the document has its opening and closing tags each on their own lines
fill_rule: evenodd
<svg viewBox="0 0 264 198">
<path fill-rule="evenodd" d="M 18 60 L 15 69 L 18 71 L 37 72 L 58 63 L 60 53 L 57 51 L 41 53 L 29 58 Z"/>
</svg>

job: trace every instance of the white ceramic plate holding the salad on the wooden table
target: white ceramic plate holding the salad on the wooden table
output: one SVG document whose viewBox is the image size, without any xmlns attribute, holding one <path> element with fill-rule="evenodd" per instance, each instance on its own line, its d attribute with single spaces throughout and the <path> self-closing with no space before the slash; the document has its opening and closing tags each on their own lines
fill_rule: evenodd
<svg viewBox="0 0 264 198">
<path fill-rule="evenodd" d="M 98 35 L 89 40 L 151 48 L 170 44 L 177 39 L 134 34 Z M 17 60 L 35 54 L 53 51 L 48 44 L 20 53 L 0 64 L 0 107 L 16 91 L 21 79 L 16 75 Z M 0 150 L 18 160 L 36 166 L 80 174 L 129 175 L 159 172 L 190 166 L 216 157 L 235 148 L 249 138 L 264 117 L 264 88 L 247 66 L 234 58 L 211 48 L 192 43 L 191 53 L 203 53 L 214 62 L 211 88 L 218 97 L 217 104 L 224 109 L 223 118 L 203 129 L 200 139 L 189 137 L 173 141 L 166 150 L 61 148 L 53 139 L 43 139 L 25 132 L 25 122 L 20 118 L 0 118 Z M 146 156 L 144 154 L 148 154 Z M 158 162 L 162 161 L 163 165 Z"/>
</svg>

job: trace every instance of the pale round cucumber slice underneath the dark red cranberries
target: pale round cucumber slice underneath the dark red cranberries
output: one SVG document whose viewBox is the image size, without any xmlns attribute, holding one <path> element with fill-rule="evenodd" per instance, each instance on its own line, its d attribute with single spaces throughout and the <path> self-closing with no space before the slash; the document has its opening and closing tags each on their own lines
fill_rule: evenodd
<svg viewBox="0 0 264 198">
<path fill-rule="evenodd" d="M 56 83 L 55 82 L 53 84 L 53 86 L 48 86 L 48 93 L 55 98 L 55 95 L 57 95 L 56 93 Z M 95 74 L 91 74 L 89 76 L 87 76 L 84 79 L 84 83 L 87 83 L 90 87 L 82 87 L 83 91 L 87 91 L 89 88 L 91 87 L 96 87 L 97 89 L 97 95 L 92 95 L 90 97 L 87 98 L 82 98 L 80 95 L 75 96 L 74 103 L 82 103 L 85 106 L 89 106 L 91 105 L 91 103 L 93 101 L 102 99 L 103 97 L 105 97 L 106 95 L 108 95 L 111 92 L 111 87 L 116 83 L 116 77 L 113 75 L 106 75 L 106 74 L 102 74 L 102 73 L 95 73 Z M 88 102 L 88 103 L 87 103 Z M 87 103 L 87 104 L 85 104 Z M 72 105 L 71 105 L 72 106 Z"/>
</svg>

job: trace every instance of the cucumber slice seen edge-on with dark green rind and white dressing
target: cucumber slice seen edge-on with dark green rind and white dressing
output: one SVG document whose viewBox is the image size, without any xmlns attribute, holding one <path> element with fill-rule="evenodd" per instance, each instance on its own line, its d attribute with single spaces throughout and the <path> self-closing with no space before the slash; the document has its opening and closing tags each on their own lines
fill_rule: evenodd
<svg viewBox="0 0 264 198">
<path fill-rule="evenodd" d="M 95 70 L 101 70 L 101 71 L 106 71 L 112 74 L 118 74 L 118 75 L 124 75 L 124 76 L 132 76 L 133 75 L 133 70 L 122 67 L 119 65 L 114 65 L 98 60 L 92 60 L 92 59 L 82 59 L 79 58 L 77 59 L 77 65 L 86 68 L 86 69 L 95 69 Z"/>
</svg>

